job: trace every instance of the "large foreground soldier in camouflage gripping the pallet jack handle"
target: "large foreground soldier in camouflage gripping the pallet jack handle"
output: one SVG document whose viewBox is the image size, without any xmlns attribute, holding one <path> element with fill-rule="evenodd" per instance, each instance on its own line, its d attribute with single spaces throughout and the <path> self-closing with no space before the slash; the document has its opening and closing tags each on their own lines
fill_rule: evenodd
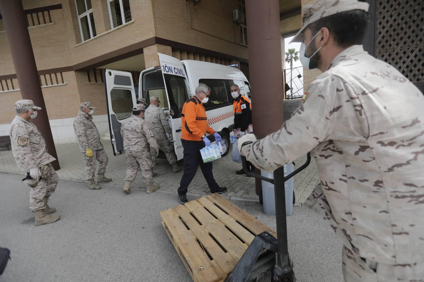
<svg viewBox="0 0 424 282">
<path fill-rule="evenodd" d="M 343 241 L 345 281 L 424 281 L 424 96 L 363 50 L 367 10 L 356 0 L 304 7 L 294 41 L 303 66 L 324 73 L 279 131 L 247 134 L 239 149 L 268 172 L 311 152 L 321 183 L 305 206 Z"/>
</svg>

